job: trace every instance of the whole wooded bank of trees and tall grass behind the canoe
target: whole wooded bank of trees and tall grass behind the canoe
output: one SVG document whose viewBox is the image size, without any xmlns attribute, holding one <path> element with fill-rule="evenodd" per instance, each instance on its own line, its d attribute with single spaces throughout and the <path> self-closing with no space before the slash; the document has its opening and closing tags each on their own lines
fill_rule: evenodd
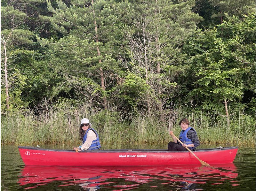
<svg viewBox="0 0 256 191">
<path fill-rule="evenodd" d="M 1 143 L 255 145 L 255 1 L 2 0 Z"/>
</svg>

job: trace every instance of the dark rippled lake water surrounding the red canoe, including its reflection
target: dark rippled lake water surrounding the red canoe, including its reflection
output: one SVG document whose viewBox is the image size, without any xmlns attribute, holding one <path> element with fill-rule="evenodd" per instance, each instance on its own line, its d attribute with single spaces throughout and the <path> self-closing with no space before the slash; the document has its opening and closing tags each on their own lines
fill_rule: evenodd
<svg viewBox="0 0 256 191">
<path fill-rule="evenodd" d="M 200 148 L 219 146 L 200 145 Z M 40 147 L 73 148 L 71 145 L 40 145 Z M 122 148 L 165 149 L 166 146 L 123 145 Z M 119 148 L 108 146 L 104 149 Z M 218 169 L 201 165 L 25 166 L 17 146 L 2 145 L 1 190 L 255 190 L 255 148 L 241 146 L 233 163 L 220 164 L 216 167 Z"/>
</svg>

